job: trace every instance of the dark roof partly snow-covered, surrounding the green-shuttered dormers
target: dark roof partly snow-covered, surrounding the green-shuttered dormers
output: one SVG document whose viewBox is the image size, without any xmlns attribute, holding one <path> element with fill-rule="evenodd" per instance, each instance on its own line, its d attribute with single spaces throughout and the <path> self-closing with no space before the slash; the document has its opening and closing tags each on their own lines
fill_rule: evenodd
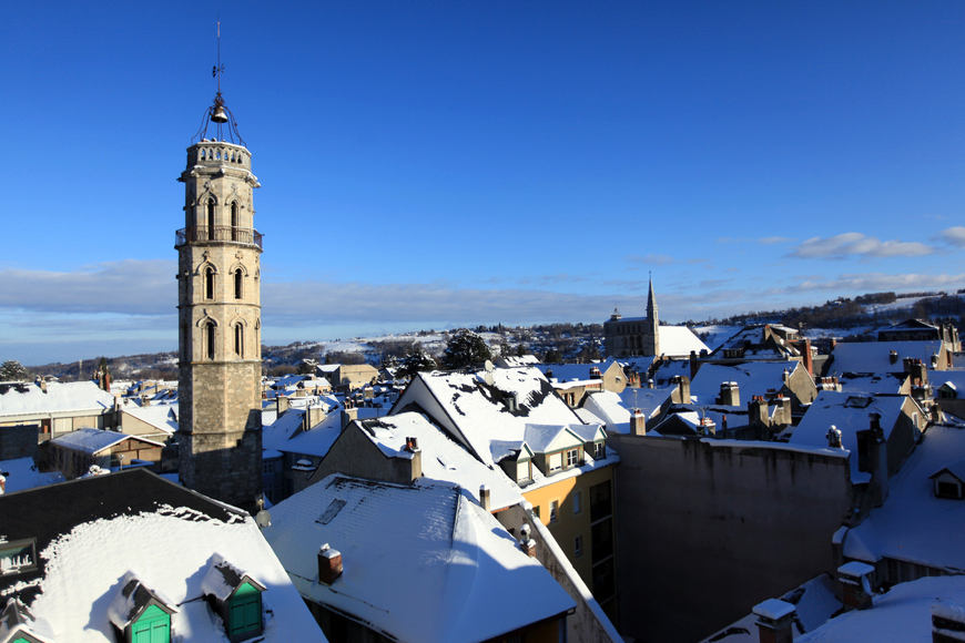
<svg viewBox="0 0 965 643">
<path fill-rule="evenodd" d="M 201 600 L 215 554 L 266 588 L 265 641 L 325 641 L 251 517 L 143 469 L 0 496 L 0 540 L 34 538 L 38 554 L 35 570 L 0 576 L 0 594 L 18 595 L 58 642 L 113 643 L 109 606 L 133 572 L 179 609 L 173 634 L 226 643 Z"/>
</svg>

